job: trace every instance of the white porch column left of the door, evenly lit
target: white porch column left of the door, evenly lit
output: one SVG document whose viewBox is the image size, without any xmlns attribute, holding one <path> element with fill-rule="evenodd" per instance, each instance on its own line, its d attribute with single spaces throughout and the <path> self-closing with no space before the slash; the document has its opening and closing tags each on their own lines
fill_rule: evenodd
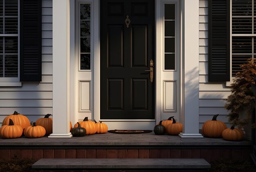
<svg viewBox="0 0 256 172">
<path fill-rule="evenodd" d="M 71 138 L 70 132 L 70 0 L 52 1 L 53 133 L 49 138 Z"/>
</svg>

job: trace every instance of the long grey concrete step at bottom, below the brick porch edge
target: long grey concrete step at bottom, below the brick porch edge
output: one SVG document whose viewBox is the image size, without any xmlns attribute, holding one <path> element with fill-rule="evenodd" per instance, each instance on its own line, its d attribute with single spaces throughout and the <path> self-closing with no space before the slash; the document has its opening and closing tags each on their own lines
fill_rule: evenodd
<svg viewBox="0 0 256 172">
<path fill-rule="evenodd" d="M 40 159 L 33 170 L 58 172 L 207 172 L 205 159 Z"/>
</svg>

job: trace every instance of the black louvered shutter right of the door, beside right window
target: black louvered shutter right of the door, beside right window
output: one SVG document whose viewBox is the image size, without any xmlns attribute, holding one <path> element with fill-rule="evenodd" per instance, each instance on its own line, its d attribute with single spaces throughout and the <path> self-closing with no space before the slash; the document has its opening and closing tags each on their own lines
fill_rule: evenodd
<svg viewBox="0 0 256 172">
<path fill-rule="evenodd" d="M 209 0 L 209 81 L 230 80 L 229 11 L 229 0 Z"/>
</svg>

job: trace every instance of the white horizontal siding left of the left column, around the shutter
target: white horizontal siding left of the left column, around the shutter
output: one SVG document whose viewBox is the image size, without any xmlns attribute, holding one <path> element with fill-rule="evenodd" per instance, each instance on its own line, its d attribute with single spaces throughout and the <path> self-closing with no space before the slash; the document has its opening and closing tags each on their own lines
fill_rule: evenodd
<svg viewBox="0 0 256 172">
<path fill-rule="evenodd" d="M 52 114 L 52 0 L 42 0 L 42 82 L 0 87 L 0 123 L 15 110 L 29 121 Z"/>
</svg>

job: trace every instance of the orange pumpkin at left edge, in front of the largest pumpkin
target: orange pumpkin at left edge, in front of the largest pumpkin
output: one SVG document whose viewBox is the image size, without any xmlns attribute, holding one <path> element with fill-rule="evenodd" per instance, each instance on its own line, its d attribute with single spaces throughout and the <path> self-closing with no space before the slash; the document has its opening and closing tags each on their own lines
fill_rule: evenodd
<svg viewBox="0 0 256 172">
<path fill-rule="evenodd" d="M 9 119 L 9 125 L 4 125 L 0 128 L 0 137 L 3 139 L 18 138 L 22 135 L 22 132 L 22 127 L 14 125 L 13 121 Z"/>
</svg>

